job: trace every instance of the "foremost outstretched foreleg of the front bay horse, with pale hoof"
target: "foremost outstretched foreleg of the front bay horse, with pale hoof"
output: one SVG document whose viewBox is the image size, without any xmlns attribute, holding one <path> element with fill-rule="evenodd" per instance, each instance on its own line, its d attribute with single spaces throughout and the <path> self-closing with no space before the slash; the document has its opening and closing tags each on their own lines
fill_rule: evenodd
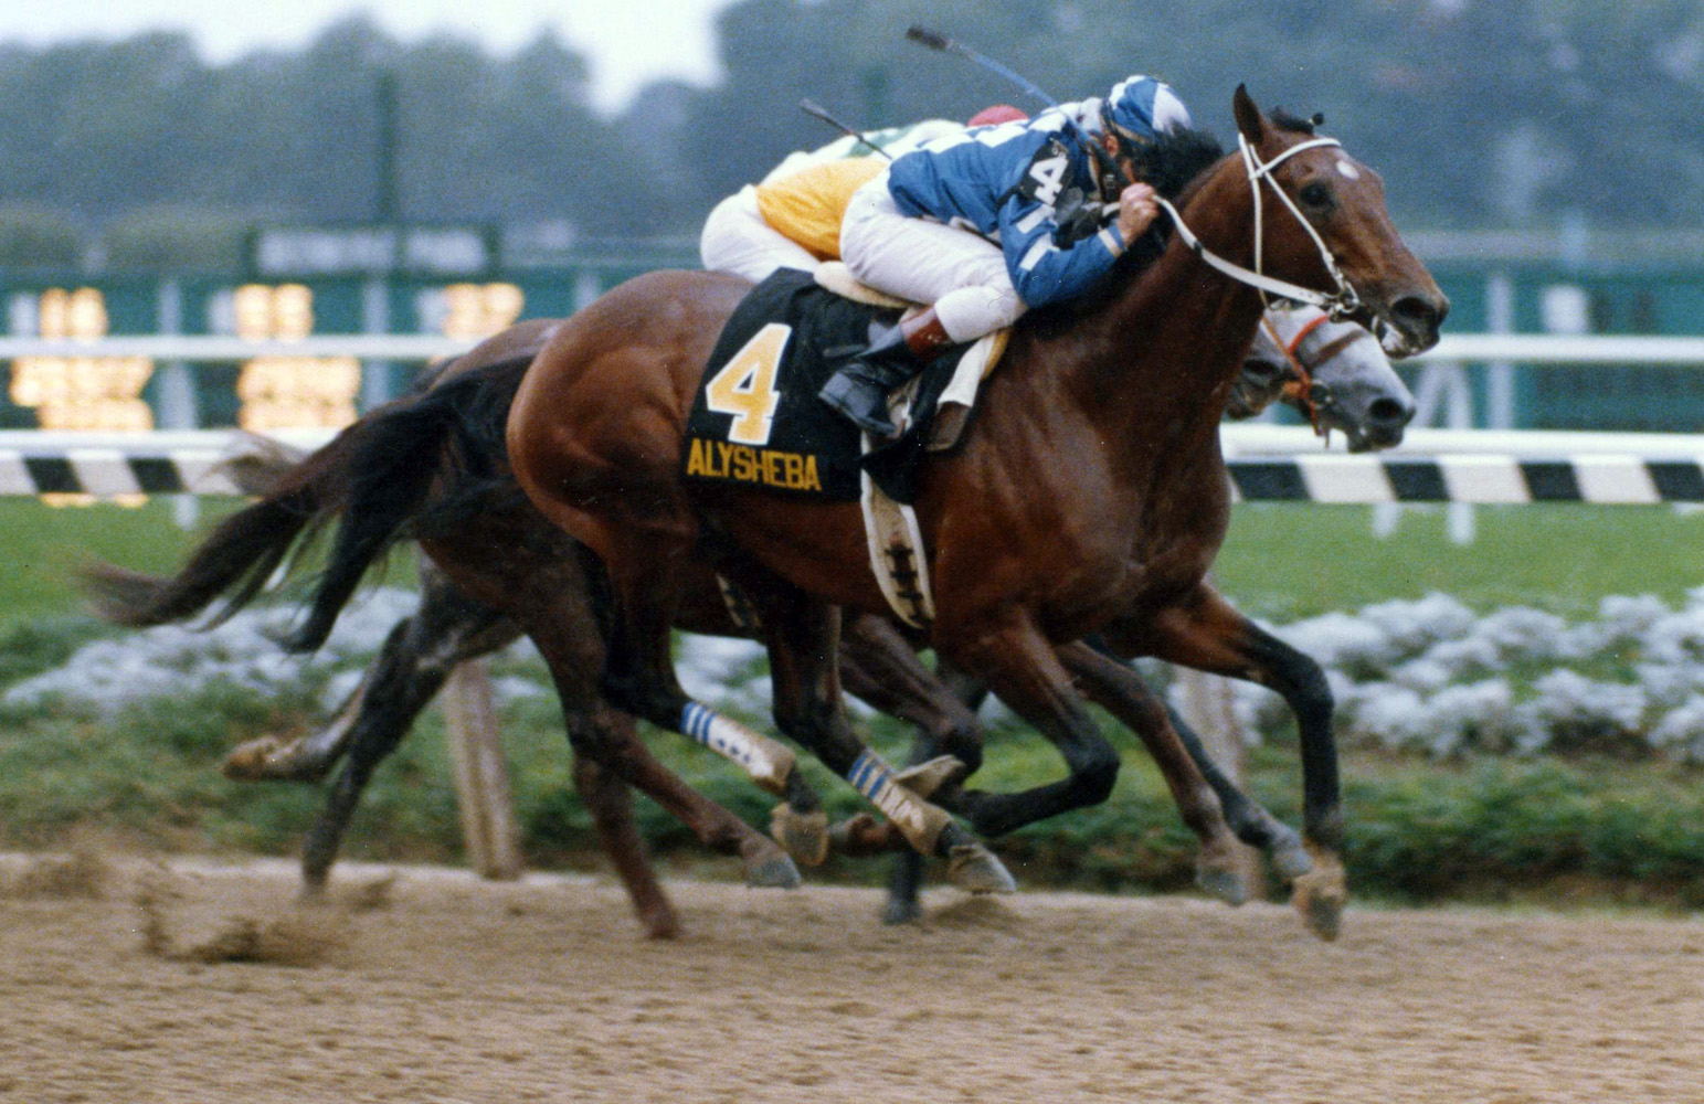
<svg viewBox="0 0 1704 1104">
<path fill-rule="evenodd" d="M 1152 653 L 1183 666 L 1259 683 L 1283 695 L 1302 741 L 1302 831 L 1312 869 L 1295 879 L 1295 901 L 1309 927 L 1334 939 L 1343 920 L 1343 797 L 1338 745 L 1331 731 L 1331 687 L 1317 663 L 1198 586 L 1154 620 Z"/>
</svg>

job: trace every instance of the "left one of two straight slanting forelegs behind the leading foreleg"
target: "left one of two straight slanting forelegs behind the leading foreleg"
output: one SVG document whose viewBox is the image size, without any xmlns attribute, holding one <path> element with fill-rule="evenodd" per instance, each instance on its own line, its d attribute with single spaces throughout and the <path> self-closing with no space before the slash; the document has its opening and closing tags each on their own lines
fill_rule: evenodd
<svg viewBox="0 0 1704 1104">
<path fill-rule="evenodd" d="M 1091 700 L 1123 721 L 1147 746 L 1171 787 L 1177 813 L 1201 840 L 1196 883 L 1208 893 L 1241 905 L 1249 896 L 1235 837 L 1225 821 L 1218 794 L 1191 758 L 1171 716 L 1133 670 L 1077 642 L 1058 649 L 1060 661 L 1077 676 Z"/>
</svg>

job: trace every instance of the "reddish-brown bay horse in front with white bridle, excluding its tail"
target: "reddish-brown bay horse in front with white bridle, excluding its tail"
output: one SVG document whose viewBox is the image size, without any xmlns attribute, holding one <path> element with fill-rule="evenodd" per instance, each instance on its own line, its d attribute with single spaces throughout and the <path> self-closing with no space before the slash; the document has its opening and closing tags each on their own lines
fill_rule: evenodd
<svg viewBox="0 0 1704 1104">
<path fill-rule="evenodd" d="M 1370 169 L 1305 124 L 1268 119 L 1242 87 L 1232 109 L 1241 155 L 1184 189 L 1162 256 L 1114 269 L 1085 302 L 1026 315 L 976 429 L 922 475 L 927 642 L 1070 767 L 1017 794 L 942 799 L 988 837 L 1108 796 L 1116 756 L 1056 651 L 1068 641 L 1099 632 L 1121 656 L 1261 681 L 1300 724 L 1314 871 L 1295 900 L 1333 937 L 1344 886 L 1331 692 L 1315 663 L 1205 583 L 1229 523 L 1218 419 L 1261 315 L 1256 286 L 1333 302 L 1385 327 L 1397 353 L 1436 342 L 1448 300 L 1402 245 Z M 859 506 L 683 482 L 687 414 L 743 291 L 717 274 L 653 273 L 564 322 L 515 395 L 515 477 L 605 564 L 615 624 L 602 688 L 617 707 L 675 731 L 704 709 L 682 692 L 668 641 L 683 569 L 709 555 L 758 608 L 780 731 L 918 852 L 961 857 L 976 837 L 900 787 L 845 719 L 838 610 L 886 608 Z"/>
</svg>

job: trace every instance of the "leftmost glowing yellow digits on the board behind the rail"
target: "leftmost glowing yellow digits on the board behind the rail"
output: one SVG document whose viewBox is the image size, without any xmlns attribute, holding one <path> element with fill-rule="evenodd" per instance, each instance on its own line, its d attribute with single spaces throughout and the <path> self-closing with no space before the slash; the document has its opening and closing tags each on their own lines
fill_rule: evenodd
<svg viewBox="0 0 1704 1104">
<path fill-rule="evenodd" d="M 94 341 L 107 334 L 97 288 L 48 288 L 36 300 L 36 332 Z M 43 429 L 152 429 L 141 388 L 153 375 L 145 356 L 20 356 L 12 363 L 12 402 L 36 411 Z"/>
</svg>

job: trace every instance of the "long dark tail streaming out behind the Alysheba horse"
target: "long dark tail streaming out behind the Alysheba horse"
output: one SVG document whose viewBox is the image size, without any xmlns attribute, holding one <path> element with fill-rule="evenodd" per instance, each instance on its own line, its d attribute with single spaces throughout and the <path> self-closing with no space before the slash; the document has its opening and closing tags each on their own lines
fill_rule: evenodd
<svg viewBox="0 0 1704 1104">
<path fill-rule="evenodd" d="M 283 639 L 290 651 L 317 649 L 366 569 L 424 511 L 440 474 L 491 480 L 506 465 L 503 429 L 528 359 L 467 371 L 363 416 L 215 526 L 170 578 L 83 567 L 95 613 L 121 625 L 160 625 L 196 617 L 223 596 L 215 622 L 225 620 L 337 520 L 307 617 Z"/>
</svg>

